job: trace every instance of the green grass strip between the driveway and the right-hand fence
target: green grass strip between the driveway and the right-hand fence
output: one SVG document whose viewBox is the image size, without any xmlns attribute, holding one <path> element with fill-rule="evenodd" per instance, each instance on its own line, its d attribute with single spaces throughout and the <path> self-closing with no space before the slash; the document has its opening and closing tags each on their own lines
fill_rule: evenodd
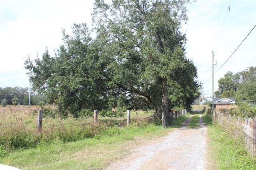
<svg viewBox="0 0 256 170">
<path fill-rule="evenodd" d="M 212 125 L 211 118 L 204 113 L 208 125 L 209 169 L 255 170 L 256 158 L 247 152 L 244 144 L 218 125 Z"/>
</svg>

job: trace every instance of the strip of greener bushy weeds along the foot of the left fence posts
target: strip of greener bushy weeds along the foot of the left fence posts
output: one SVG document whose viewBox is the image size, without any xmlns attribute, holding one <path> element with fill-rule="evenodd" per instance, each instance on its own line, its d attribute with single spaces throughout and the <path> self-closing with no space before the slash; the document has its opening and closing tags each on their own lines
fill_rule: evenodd
<svg viewBox="0 0 256 170">
<path fill-rule="evenodd" d="M 72 123 L 73 124 L 73 123 Z M 73 142 L 84 138 L 93 138 L 101 133 L 108 133 L 113 124 L 97 123 L 84 125 L 52 124 L 37 132 L 36 128 L 26 126 L 23 122 L 12 123 L 10 127 L 0 127 L 0 145 L 5 148 L 33 148 L 41 142 L 50 143 L 52 140 Z"/>
</svg>

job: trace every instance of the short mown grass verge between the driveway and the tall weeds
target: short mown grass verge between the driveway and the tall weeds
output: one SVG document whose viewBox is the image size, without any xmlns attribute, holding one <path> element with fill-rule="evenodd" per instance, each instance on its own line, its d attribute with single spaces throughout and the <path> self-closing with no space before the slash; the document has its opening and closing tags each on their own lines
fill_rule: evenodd
<svg viewBox="0 0 256 170">
<path fill-rule="evenodd" d="M 20 169 L 101 169 L 130 154 L 144 140 L 167 135 L 170 128 L 156 125 L 122 128 L 117 134 L 102 134 L 76 142 L 38 144 L 36 148 L 13 150 L 0 160 Z"/>
</svg>

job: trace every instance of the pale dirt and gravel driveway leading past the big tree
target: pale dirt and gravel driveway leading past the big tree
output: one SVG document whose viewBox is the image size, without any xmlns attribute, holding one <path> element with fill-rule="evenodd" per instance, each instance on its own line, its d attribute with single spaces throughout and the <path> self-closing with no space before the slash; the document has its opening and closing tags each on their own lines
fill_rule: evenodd
<svg viewBox="0 0 256 170">
<path fill-rule="evenodd" d="M 193 115 L 192 115 L 193 116 Z M 182 128 L 132 150 L 132 154 L 107 170 L 204 170 L 206 131 L 200 115 L 200 128 Z"/>
</svg>

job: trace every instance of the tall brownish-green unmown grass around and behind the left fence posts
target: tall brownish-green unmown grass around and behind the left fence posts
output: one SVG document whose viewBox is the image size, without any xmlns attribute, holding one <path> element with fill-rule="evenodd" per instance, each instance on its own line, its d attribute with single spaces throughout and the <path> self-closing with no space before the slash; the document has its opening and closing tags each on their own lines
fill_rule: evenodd
<svg viewBox="0 0 256 170">
<path fill-rule="evenodd" d="M 34 148 L 38 144 L 50 143 L 52 140 L 74 142 L 85 138 L 97 138 L 101 134 L 115 134 L 120 127 L 126 126 L 124 118 L 99 118 L 97 124 L 90 119 L 43 119 L 40 133 L 36 130 L 36 114 L 24 108 L 0 109 L 0 145 L 2 148 Z M 150 113 L 132 113 L 132 124 L 129 127 L 144 127 L 146 117 Z"/>
</svg>

